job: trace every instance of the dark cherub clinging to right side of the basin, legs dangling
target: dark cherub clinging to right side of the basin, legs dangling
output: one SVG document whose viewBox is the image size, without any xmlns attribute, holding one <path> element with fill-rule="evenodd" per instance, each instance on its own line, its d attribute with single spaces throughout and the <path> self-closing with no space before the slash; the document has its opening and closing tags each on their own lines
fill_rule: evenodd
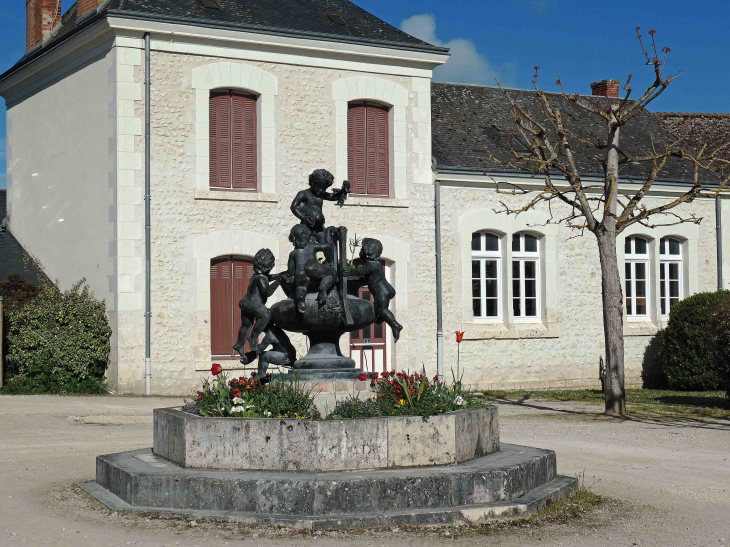
<svg viewBox="0 0 730 547">
<path fill-rule="evenodd" d="M 362 266 L 350 268 L 347 277 L 362 277 L 366 280 L 370 294 L 373 295 L 375 315 L 378 322 L 385 321 L 393 331 L 393 340 L 398 341 L 403 325 L 398 323 L 393 312 L 388 309 L 390 301 L 395 297 L 395 289 L 385 279 L 383 265 L 380 263 L 380 255 L 383 252 L 383 244 L 377 239 L 366 237 L 362 240 L 360 247 L 360 259 Z"/>
</svg>

